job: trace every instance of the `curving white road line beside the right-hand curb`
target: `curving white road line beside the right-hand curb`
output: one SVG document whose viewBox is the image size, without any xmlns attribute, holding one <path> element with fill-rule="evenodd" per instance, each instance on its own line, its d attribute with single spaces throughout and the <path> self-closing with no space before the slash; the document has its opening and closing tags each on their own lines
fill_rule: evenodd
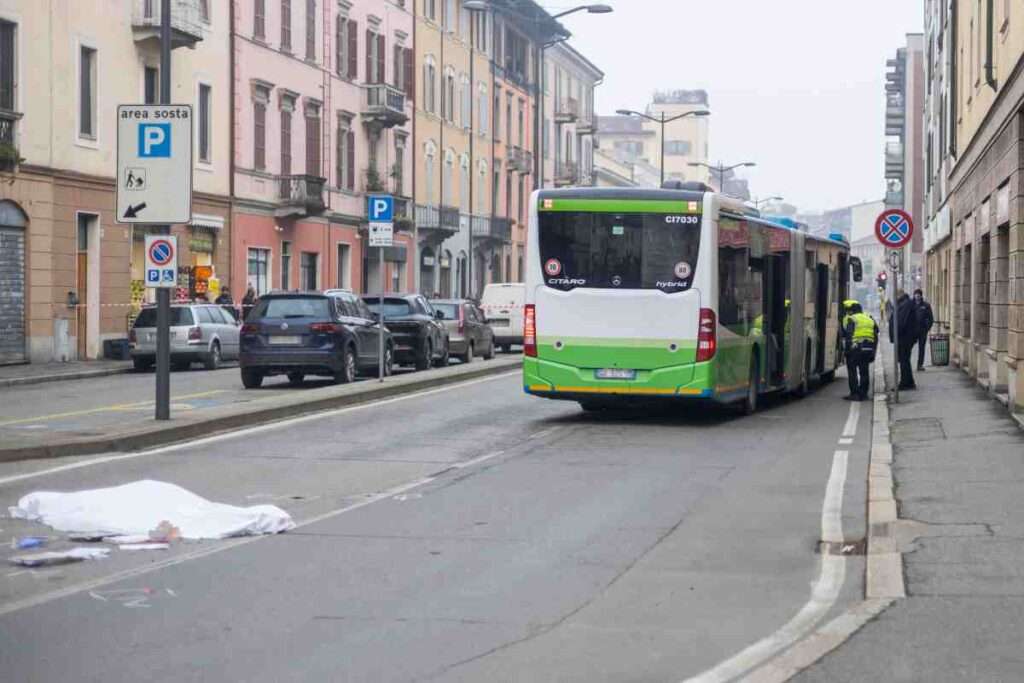
<svg viewBox="0 0 1024 683">
<path fill-rule="evenodd" d="M 850 419 L 846 423 L 847 430 L 850 429 L 852 423 L 853 429 L 856 431 L 856 418 L 860 414 L 858 409 L 858 403 L 850 403 Z M 846 451 L 837 451 L 833 456 L 831 473 L 828 475 L 824 502 L 821 505 L 822 541 L 843 540 L 843 487 L 846 484 L 848 456 L 849 453 Z M 693 678 L 686 679 L 685 683 L 725 683 L 731 681 L 790 647 L 803 638 L 828 613 L 839 598 L 845 580 L 846 558 L 839 555 L 821 555 L 821 573 L 811 589 L 811 599 L 797 612 L 796 616 L 775 633 L 759 640 L 714 669 L 709 669 Z"/>
</svg>

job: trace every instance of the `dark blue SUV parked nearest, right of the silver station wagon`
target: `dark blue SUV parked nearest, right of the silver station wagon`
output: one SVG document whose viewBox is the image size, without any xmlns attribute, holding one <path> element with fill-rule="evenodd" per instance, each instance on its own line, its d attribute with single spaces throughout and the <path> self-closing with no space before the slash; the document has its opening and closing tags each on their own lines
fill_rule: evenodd
<svg viewBox="0 0 1024 683">
<path fill-rule="evenodd" d="M 242 384 L 254 389 L 271 375 L 300 384 L 306 375 L 352 382 L 360 372 L 379 372 L 384 335 L 384 374 L 394 365 L 395 344 L 354 294 L 336 292 L 264 295 L 242 327 Z"/>
</svg>

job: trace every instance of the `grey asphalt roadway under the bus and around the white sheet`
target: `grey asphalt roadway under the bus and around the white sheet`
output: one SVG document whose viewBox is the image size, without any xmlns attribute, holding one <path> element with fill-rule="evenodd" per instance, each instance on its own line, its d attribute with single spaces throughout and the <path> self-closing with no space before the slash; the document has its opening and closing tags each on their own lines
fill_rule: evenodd
<svg viewBox="0 0 1024 683">
<path fill-rule="evenodd" d="M 585 415 L 523 395 L 508 375 L 154 454 L 0 465 L 5 506 L 153 478 L 219 502 L 272 502 L 300 524 L 4 570 L 0 672 L 684 680 L 771 644 L 808 603 L 837 449 L 849 452 L 844 532 L 862 538 L 869 411 L 851 418 L 843 388 L 752 418 Z M 848 423 L 857 435 L 838 445 Z M 0 526 L 3 538 L 47 532 Z M 862 595 L 862 560 L 844 562 L 821 620 Z"/>
</svg>

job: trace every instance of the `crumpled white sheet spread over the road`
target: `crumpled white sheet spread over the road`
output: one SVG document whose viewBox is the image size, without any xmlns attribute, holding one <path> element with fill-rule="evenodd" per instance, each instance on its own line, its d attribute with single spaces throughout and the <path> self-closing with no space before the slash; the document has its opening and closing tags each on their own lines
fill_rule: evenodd
<svg viewBox="0 0 1024 683">
<path fill-rule="evenodd" d="M 181 486 L 152 480 L 29 494 L 10 508 L 10 516 L 39 521 L 58 531 L 110 535 L 148 536 L 161 522 L 169 521 L 183 539 L 226 539 L 295 528 L 291 516 L 274 505 L 239 508 L 211 503 Z"/>
</svg>

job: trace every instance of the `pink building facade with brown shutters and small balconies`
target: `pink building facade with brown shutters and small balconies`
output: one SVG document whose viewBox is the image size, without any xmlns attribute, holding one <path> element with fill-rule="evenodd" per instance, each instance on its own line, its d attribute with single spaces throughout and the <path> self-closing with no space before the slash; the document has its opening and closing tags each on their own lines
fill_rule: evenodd
<svg viewBox="0 0 1024 683">
<path fill-rule="evenodd" d="M 376 292 L 366 197 L 396 198 L 384 290 L 415 289 L 413 15 L 393 0 L 231 0 L 231 288 Z"/>
</svg>

